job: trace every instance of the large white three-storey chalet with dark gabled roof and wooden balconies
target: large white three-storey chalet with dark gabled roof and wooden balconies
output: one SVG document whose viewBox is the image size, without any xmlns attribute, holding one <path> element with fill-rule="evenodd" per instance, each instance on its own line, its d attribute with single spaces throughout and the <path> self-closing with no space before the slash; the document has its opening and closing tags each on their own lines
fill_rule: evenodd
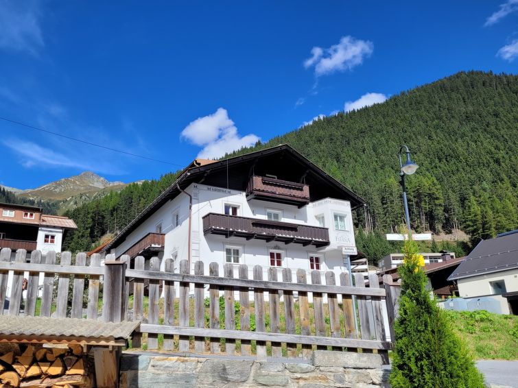
<svg viewBox="0 0 518 388">
<path fill-rule="evenodd" d="M 338 275 L 357 254 L 351 210 L 363 205 L 292 147 L 279 145 L 195 160 L 104 249 L 117 257 L 173 258 L 175 271 L 187 259 L 191 271 L 202 260 L 205 274 L 217 262 L 220 274 L 224 263 L 246 264 L 250 278 L 254 265 Z"/>
</svg>

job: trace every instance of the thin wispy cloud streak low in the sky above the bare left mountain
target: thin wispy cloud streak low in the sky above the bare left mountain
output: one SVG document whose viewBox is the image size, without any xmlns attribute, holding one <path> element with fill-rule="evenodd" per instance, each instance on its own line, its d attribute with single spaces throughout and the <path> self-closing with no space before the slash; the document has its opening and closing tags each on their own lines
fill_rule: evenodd
<svg viewBox="0 0 518 388">
<path fill-rule="evenodd" d="M 20 163 L 23 167 L 71 167 L 82 170 L 96 171 L 98 173 L 107 173 L 110 175 L 119 175 L 123 172 L 110 162 L 82 162 L 82 158 L 77 155 L 67 156 L 66 154 L 56 152 L 51 148 L 42 147 L 30 141 L 23 141 L 19 138 L 9 138 L 4 140 L 3 145 L 9 147 L 18 154 Z"/>
</svg>

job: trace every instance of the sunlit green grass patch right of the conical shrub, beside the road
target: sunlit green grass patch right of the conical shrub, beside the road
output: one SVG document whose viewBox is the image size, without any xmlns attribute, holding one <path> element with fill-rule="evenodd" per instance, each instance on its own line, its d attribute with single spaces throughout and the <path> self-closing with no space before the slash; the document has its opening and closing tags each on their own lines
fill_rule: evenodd
<svg viewBox="0 0 518 388">
<path fill-rule="evenodd" d="M 518 316 L 487 311 L 446 311 L 475 359 L 518 360 Z"/>
</svg>

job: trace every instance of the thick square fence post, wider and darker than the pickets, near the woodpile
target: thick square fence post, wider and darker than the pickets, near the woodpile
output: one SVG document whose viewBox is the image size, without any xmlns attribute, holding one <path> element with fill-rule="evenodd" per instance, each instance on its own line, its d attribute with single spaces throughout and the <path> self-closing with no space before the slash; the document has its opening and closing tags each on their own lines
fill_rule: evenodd
<svg viewBox="0 0 518 388">
<path fill-rule="evenodd" d="M 104 260 L 104 292 L 102 315 L 104 322 L 121 322 L 126 302 L 126 261 L 115 260 L 109 254 Z"/>
</svg>

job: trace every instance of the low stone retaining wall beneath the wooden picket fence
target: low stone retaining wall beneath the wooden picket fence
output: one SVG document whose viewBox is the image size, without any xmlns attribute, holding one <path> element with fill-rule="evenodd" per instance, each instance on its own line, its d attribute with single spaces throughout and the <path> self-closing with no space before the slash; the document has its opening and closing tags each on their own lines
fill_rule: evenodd
<svg viewBox="0 0 518 388">
<path fill-rule="evenodd" d="M 124 353 L 121 388 L 389 387 L 377 354 L 313 352 L 311 363 Z"/>
</svg>

